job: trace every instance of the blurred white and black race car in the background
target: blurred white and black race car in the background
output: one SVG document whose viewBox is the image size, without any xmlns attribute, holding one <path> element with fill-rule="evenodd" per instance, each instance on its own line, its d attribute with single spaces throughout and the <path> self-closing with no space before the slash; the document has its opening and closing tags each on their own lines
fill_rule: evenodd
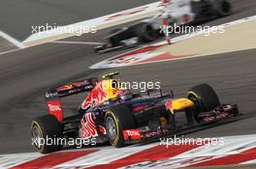
<svg viewBox="0 0 256 169">
<path fill-rule="evenodd" d="M 194 25 L 232 13 L 232 4 L 228 0 L 172 0 L 162 6 L 164 11 L 153 17 L 112 30 L 105 38 L 107 42 L 94 47 L 94 51 L 104 53 L 155 41 L 165 35 L 163 19 L 167 20 L 169 26 L 174 27 Z"/>
</svg>

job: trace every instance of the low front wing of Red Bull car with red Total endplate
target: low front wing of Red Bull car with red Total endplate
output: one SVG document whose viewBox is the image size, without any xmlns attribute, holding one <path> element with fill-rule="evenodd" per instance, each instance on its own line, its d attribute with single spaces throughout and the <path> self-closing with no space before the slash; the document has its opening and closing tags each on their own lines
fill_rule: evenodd
<svg viewBox="0 0 256 169">
<path fill-rule="evenodd" d="M 194 123 L 177 127 L 174 124 L 160 125 L 157 128 L 139 127 L 136 129 L 123 130 L 123 137 L 126 144 L 143 143 L 155 141 L 165 136 L 183 135 L 209 127 L 216 127 L 241 119 L 237 104 L 223 104 L 214 110 L 204 113 L 200 123 Z"/>
</svg>

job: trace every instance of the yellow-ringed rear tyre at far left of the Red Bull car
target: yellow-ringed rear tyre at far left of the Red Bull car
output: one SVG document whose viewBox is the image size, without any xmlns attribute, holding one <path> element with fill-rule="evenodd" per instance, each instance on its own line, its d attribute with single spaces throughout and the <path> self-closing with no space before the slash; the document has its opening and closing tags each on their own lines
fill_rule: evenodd
<svg viewBox="0 0 256 169">
<path fill-rule="evenodd" d="M 31 122 L 32 145 L 42 154 L 62 149 L 62 125 L 52 115 L 38 117 Z"/>
</svg>

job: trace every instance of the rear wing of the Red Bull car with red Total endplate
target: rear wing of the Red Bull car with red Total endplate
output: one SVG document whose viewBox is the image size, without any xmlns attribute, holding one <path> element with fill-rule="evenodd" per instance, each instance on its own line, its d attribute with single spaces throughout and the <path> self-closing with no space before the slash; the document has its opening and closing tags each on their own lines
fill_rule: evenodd
<svg viewBox="0 0 256 169">
<path fill-rule="evenodd" d="M 48 114 L 55 116 L 59 122 L 63 122 L 63 109 L 60 99 L 80 94 L 82 92 L 90 92 L 94 88 L 97 81 L 98 78 L 93 77 L 55 88 L 49 88 L 46 93 Z"/>
</svg>

